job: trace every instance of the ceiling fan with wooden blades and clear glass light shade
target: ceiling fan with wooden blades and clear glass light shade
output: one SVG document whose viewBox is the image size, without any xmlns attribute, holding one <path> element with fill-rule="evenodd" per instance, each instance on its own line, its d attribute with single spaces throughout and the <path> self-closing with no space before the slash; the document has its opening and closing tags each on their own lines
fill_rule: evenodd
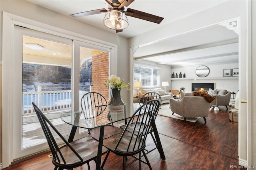
<svg viewBox="0 0 256 170">
<path fill-rule="evenodd" d="M 106 13 L 103 24 L 104 26 L 116 30 L 116 32 L 122 32 L 123 29 L 127 28 L 128 26 L 128 19 L 127 16 L 131 16 L 134 18 L 139 18 L 142 20 L 154 22 L 160 24 L 164 18 L 155 16 L 152 14 L 148 14 L 146 12 L 137 11 L 131 8 L 127 8 L 125 11 L 124 6 L 129 6 L 134 0 L 105 0 L 108 4 L 108 10 L 105 8 L 98 9 L 98 10 L 91 10 L 86 12 L 80 12 L 77 14 L 72 14 L 70 16 L 74 18 L 82 17 L 82 16 L 89 16 L 94 14 L 101 14 Z"/>
</svg>

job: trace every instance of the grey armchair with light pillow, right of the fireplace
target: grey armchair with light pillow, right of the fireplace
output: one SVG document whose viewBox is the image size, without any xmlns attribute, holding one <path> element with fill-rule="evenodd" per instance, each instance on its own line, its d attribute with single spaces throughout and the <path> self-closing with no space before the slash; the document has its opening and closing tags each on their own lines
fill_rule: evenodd
<svg viewBox="0 0 256 170">
<path fill-rule="evenodd" d="M 218 106 L 226 106 L 228 109 L 231 92 L 223 89 L 217 89 L 217 107 Z M 216 106 L 216 97 L 214 101 L 212 101 L 211 106 Z"/>
</svg>

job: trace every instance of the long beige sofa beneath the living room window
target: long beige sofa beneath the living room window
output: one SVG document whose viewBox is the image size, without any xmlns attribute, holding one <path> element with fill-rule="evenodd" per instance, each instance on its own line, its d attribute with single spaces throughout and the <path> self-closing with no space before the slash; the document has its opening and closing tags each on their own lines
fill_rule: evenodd
<svg viewBox="0 0 256 170">
<path fill-rule="evenodd" d="M 170 92 L 164 92 L 161 88 L 153 88 L 153 89 L 142 89 L 139 91 L 139 95 L 143 96 L 144 94 L 148 92 L 156 92 L 160 95 L 162 104 L 163 103 L 169 103 L 170 99 L 173 98 L 172 93 Z"/>
</svg>

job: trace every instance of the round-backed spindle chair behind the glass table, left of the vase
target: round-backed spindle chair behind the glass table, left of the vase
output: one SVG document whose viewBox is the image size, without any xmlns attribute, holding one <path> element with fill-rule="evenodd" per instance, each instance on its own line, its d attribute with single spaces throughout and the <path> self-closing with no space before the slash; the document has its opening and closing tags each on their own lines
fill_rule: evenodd
<svg viewBox="0 0 256 170">
<path fill-rule="evenodd" d="M 80 107 L 82 113 L 86 119 L 92 119 L 102 114 L 107 108 L 107 101 L 103 95 L 96 92 L 89 92 L 82 96 Z M 108 138 L 117 133 L 122 133 L 122 130 L 113 125 L 106 125 L 104 127 L 104 137 Z M 95 140 L 99 140 L 100 128 L 94 128 L 88 130 L 88 135 L 90 135 Z"/>
</svg>

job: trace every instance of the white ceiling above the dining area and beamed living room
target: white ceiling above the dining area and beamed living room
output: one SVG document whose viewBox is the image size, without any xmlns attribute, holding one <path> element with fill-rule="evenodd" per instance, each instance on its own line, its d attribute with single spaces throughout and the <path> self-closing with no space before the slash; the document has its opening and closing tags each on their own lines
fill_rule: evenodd
<svg viewBox="0 0 256 170">
<path fill-rule="evenodd" d="M 66 16 L 100 8 L 108 9 L 108 4 L 104 0 L 27 1 Z M 129 26 L 120 33 L 116 33 L 115 30 L 106 28 L 103 25 L 104 14 L 95 14 L 75 19 L 108 32 L 131 38 L 208 8 L 212 8 L 226 1 L 227 0 L 135 0 L 128 8 L 161 16 L 164 20 L 160 24 L 156 24 L 128 16 Z M 152 49 L 154 49 L 154 51 L 152 51 Z M 238 35 L 224 26 L 211 26 L 189 34 L 176 36 L 163 42 L 140 47 L 136 50 L 133 57 L 173 67 L 207 63 L 218 64 L 222 62 L 234 63 L 238 62 Z"/>
</svg>

